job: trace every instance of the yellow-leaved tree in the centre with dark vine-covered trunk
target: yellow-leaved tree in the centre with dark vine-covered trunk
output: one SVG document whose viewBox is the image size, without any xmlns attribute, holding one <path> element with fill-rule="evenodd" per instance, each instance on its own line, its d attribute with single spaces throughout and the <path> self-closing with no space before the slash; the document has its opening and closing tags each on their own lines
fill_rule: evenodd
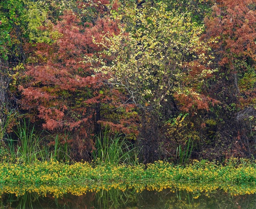
<svg viewBox="0 0 256 209">
<path fill-rule="evenodd" d="M 213 55 L 206 56 L 208 43 L 200 40 L 203 26 L 193 22 L 189 12 L 167 8 L 166 3 L 152 7 L 149 2 L 135 5 L 126 14 L 112 14 L 122 22 L 120 33 L 94 40 L 105 50 L 100 56 L 85 56 L 84 61 L 100 63 L 92 67 L 95 73 L 104 76 L 105 84 L 127 92 L 127 103 L 140 109 L 141 137 L 148 140 L 144 149 L 151 147 L 145 153 L 152 155 L 159 146 L 158 126 L 173 116 L 173 112 L 163 116 L 168 105 L 182 111 L 208 110 L 209 104 L 217 102 L 200 92 L 200 85 L 215 71 L 210 67 Z M 105 57 L 114 58 L 106 62 Z"/>
</svg>

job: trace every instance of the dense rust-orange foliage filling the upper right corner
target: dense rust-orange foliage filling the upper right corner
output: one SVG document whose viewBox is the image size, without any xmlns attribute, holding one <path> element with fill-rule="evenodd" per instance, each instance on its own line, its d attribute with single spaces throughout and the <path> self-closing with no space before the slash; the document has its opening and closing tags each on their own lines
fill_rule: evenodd
<svg viewBox="0 0 256 209">
<path fill-rule="evenodd" d="M 224 66 L 232 62 L 234 55 L 246 58 L 255 57 L 256 11 L 255 0 L 217 0 L 213 14 L 205 18 L 206 36 L 219 37 L 217 43 L 211 43 L 221 55 L 219 64 Z"/>
</svg>

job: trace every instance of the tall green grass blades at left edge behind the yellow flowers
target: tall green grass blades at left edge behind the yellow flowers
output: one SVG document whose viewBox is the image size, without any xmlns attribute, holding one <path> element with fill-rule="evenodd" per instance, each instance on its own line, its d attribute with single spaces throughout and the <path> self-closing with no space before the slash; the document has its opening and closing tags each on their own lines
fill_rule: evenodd
<svg viewBox="0 0 256 209">
<path fill-rule="evenodd" d="M 7 127 L 13 117 L 6 119 L 2 124 L 0 119 L 0 161 L 12 163 L 33 163 L 35 161 L 69 161 L 70 146 L 68 144 L 69 133 L 63 136 L 52 136 L 46 131 L 35 132 L 35 126 L 31 126 L 30 120 L 26 122 L 18 120 L 11 133 L 7 133 Z M 44 137 L 42 137 L 44 135 Z M 47 144 L 45 136 L 54 139 L 54 147 Z"/>
</svg>

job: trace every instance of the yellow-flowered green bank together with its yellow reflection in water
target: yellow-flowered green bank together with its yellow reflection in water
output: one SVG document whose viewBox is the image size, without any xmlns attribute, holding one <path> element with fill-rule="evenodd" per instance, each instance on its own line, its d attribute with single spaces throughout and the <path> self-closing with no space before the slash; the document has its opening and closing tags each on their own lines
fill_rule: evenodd
<svg viewBox="0 0 256 209">
<path fill-rule="evenodd" d="M 236 163 L 234 163 L 236 162 Z M 125 191 L 134 188 L 161 191 L 163 189 L 186 190 L 195 194 L 210 194 L 222 189 L 231 195 L 256 193 L 255 163 L 231 159 L 225 166 L 208 161 L 194 160 L 186 167 L 157 161 L 137 166 L 110 164 L 93 166 L 88 162 L 71 165 L 49 161 L 33 164 L 0 163 L 0 195 L 13 193 L 17 196 L 26 191 L 55 197 L 65 193 L 82 195 L 88 191 Z M 20 185 L 20 186 L 18 186 Z"/>
</svg>

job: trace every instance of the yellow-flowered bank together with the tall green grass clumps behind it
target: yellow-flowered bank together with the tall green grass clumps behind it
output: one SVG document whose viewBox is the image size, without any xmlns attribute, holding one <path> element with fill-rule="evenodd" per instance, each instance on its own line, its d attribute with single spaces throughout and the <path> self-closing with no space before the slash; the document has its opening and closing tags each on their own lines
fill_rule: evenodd
<svg viewBox="0 0 256 209">
<path fill-rule="evenodd" d="M 130 185 L 141 190 L 172 187 L 177 182 L 186 184 L 212 185 L 212 189 L 229 188 L 228 185 L 250 184 L 256 188 L 256 161 L 231 158 L 225 162 L 189 160 L 191 150 L 177 151 L 176 164 L 164 161 L 142 164 L 138 161 L 139 149 L 116 134 L 105 131 L 95 137 L 95 150 L 91 162 L 69 161 L 69 152 L 58 136 L 50 150 L 42 145 L 40 137 L 24 123 L 14 134 L 6 136 L 8 146 L 2 146 L 0 158 L 0 184 L 5 192 L 17 185 L 27 188 L 44 186 L 81 185 L 82 188 L 119 187 Z M 187 145 L 189 147 L 189 144 Z M 182 151 L 182 155 L 181 155 Z M 5 155 L 4 155 L 5 153 Z M 184 158 L 184 159 L 183 159 Z M 225 187 L 215 187 L 216 185 Z M 86 187 L 84 187 L 84 185 Z M 140 189 L 141 188 L 141 189 Z M 250 191 L 252 191 L 252 188 Z"/>
</svg>

